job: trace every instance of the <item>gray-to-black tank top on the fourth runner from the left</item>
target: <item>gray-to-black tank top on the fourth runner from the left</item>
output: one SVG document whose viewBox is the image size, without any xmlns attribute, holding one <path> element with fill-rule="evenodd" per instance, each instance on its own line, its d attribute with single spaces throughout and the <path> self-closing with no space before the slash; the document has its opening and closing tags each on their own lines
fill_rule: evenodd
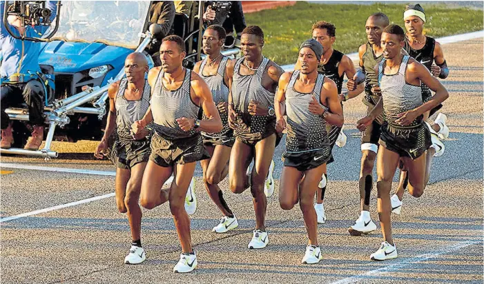
<svg viewBox="0 0 484 284">
<path fill-rule="evenodd" d="M 262 85 L 262 77 L 269 59 L 263 57 L 257 71 L 251 75 L 240 74 L 242 61 L 244 61 L 244 57 L 238 59 L 233 68 L 232 102 L 235 111 L 242 114 L 242 121 L 249 126 L 250 132 L 262 134 L 266 131 L 266 125 L 274 123 L 275 116 L 252 116 L 249 114 L 248 107 L 251 101 L 258 101 L 265 108 L 274 105 L 275 94 L 266 90 Z M 235 130 L 235 132 L 237 131 Z"/>
</svg>

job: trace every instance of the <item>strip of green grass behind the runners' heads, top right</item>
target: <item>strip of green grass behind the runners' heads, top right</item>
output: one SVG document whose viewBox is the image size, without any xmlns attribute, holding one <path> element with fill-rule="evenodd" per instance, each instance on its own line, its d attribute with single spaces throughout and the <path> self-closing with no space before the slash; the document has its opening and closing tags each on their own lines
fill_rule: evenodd
<svg viewBox="0 0 484 284">
<path fill-rule="evenodd" d="M 425 32 L 430 37 L 483 30 L 483 10 L 425 5 Z M 391 23 L 403 27 L 404 4 L 341 5 L 315 4 L 298 1 L 290 7 L 246 14 L 248 25 L 264 30 L 264 55 L 280 65 L 294 63 L 298 46 L 311 37 L 311 26 L 325 20 L 336 26 L 334 48 L 341 52 L 356 52 L 366 41 L 365 22 L 370 14 L 384 12 Z"/>
</svg>

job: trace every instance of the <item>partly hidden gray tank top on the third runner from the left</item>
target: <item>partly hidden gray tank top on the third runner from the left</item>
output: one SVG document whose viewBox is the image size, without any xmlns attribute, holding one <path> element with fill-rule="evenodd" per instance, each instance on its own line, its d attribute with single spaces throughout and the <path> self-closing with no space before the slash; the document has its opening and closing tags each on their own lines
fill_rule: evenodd
<svg viewBox="0 0 484 284">
<path fill-rule="evenodd" d="M 229 61 L 229 57 L 222 57 L 222 60 L 218 65 L 217 74 L 211 75 L 211 76 L 205 76 L 203 74 L 203 70 L 206 64 L 206 58 L 202 61 L 202 64 L 200 65 L 199 75 L 200 77 L 202 77 L 202 79 L 204 79 L 206 84 L 209 85 L 209 89 L 212 92 L 213 102 L 215 103 L 215 105 L 222 102 L 224 103 L 229 102 L 229 87 L 227 87 L 224 82 L 227 61 Z M 220 114 L 220 119 L 222 119 L 222 125 L 223 125 L 222 131 L 218 133 L 202 132 L 203 136 L 217 138 L 217 137 L 226 136 L 227 132 L 231 131 L 231 129 L 229 128 L 229 121 L 228 121 L 229 114 L 227 112 L 223 114 L 219 112 L 219 114 Z M 207 119 L 205 114 L 203 115 L 203 119 Z"/>
</svg>

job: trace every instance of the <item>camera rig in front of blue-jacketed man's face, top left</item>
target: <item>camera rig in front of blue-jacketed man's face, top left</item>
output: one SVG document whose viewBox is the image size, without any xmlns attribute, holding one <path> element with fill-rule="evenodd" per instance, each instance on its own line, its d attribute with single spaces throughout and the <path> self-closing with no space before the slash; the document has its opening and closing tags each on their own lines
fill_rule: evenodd
<svg viewBox="0 0 484 284">
<path fill-rule="evenodd" d="M 13 1 L 7 11 L 8 16 L 19 17 L 23 26 L 50 26 L 51 13 L 46 1 Z"/>
</svg>

